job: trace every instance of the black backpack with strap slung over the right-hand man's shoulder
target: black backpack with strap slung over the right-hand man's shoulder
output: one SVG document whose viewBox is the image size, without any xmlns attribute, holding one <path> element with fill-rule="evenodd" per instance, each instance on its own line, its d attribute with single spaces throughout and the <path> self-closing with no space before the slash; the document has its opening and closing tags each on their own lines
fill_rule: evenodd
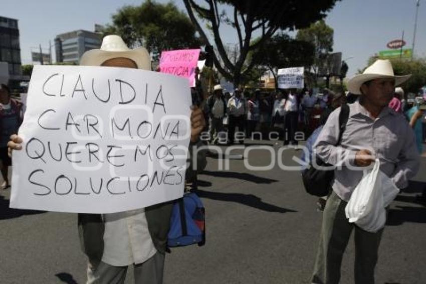
<svg viewBox="0 0 426 284">
<path fill-rule="evenodd" d="M 335 146 L 339 145 L 342 140 L 342 134 L 346 129 L 346 122 L 349 117 L 349 106 L 345 103 L 340 107 L 339 113 L 339 138 Z M 318 157 L 316 159 L 316 165 L 321 167 L 329 167 L 330 170 L 319 170 L 312 165 L 312 161 L 309 163 L 307 170 L 302 172 L 302 181 L 305 186 L 307 193 L 315 196 L 326 196 L 331 190 L 331 182 L 334 179 L 334 167 L 330 164 L 324 163 Z"/>
</svg>

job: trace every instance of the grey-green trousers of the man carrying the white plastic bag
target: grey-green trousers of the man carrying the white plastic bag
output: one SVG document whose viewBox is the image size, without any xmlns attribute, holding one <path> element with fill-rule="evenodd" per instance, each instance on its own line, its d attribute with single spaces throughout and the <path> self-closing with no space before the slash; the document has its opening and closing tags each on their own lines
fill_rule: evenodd
<svg viewBox="0 0 426 284">
<path fill-rule="evenodd" d="M 331 193 L 325 204 L 320 243 L 311 279 L 316 284 L 337 284 L 340 265 L 350 234 L 355 229 L 355 284 L 374 283 L 374 267 L 383 229 L 376 233 L 364 231 L 349 223 L 345 215 L 347 202 Z M 351 282 L 343 279 L 342 283 Z"/>
</svg>

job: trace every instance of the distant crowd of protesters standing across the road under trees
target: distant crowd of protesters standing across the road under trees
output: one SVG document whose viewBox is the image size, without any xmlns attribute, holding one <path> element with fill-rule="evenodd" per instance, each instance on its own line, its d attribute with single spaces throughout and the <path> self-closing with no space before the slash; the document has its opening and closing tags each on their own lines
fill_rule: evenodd
<svg viewBox="0 0 426 284">
<path fill-rule="evenodd" d="M 263 92 L 236 88 L 231 95 L 216 85 L 203 107 L 210 144 L 243 144 L 244 138 L 279 137 L 283 145 L 298 145 L 319 126 L 321 114 L 332 110 L 337 98 L 346 96 L 327 88 L 317 94 L 313 89 Z M 300 138 L 298 132 L 303 133 Z M 271 133 L 278 133 L 278 137 Z"/>
</svg>

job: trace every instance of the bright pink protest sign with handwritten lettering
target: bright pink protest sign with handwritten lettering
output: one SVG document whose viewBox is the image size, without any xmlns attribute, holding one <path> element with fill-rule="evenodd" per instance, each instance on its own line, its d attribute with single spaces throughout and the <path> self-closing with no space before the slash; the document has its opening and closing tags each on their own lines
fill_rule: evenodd
<svg viewBox="0 0 426 284">
<path fill-rule="evenodd" d="M 160 72 L 185 77 L 189 86 L 193 86 L 199 51 L 200 49 L 181 49 L 161 52 Z"/>
</svg>

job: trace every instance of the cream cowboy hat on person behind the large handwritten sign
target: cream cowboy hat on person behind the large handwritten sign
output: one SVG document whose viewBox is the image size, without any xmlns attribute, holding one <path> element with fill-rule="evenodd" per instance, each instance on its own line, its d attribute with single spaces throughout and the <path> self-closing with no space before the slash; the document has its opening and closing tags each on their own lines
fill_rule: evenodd
<svg viewBox="0 0 426 284">
<path fill-rule="evenodd" d="M 129 49 L 123 39 L 117 35 L 103 38 L 100 49 L 86 51 L 80 59 L 80 65 L 100 66 L 108 59 L 124 57 L 133 60 L 138 69 L 151 70 L 151 60 L 144 47 Z"/>
</svg>

